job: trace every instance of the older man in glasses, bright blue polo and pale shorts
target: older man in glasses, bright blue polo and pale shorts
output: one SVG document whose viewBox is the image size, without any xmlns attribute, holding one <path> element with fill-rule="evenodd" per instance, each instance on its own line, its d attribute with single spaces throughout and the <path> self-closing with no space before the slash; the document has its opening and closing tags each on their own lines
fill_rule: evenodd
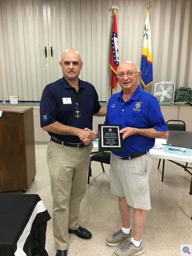
<svg viewBox="0 0 192 256">
<path fill-rule="evenodd" d="M 151 171 L 149 149 L 155 138 L 167 139 L 168 129 L 157 99 L 138 86 L 141 72 L 125 61 L 117 69 L 122 91 L 108 101 L 105 124 L 121 124 L 124 151 L 111 153 L 111 193 L 119 197 L 122 228 L 106 239 L 110 246 L 122 241 L 114 256 L 133 256 L 144 252 L 141 235 L 146 211 L 151 209 L 148 176 Z M 134 230 L 130 227 L 133 209 Z"/>
</svg>

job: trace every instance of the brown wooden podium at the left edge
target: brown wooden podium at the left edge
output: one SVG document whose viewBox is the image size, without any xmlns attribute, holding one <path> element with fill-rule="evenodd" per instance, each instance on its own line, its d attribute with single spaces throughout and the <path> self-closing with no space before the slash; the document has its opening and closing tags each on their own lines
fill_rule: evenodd
<svg viewBox="0 0 192 256">
<path fill-rule="evenodd" d="M 0 117 L 0 192 L 29 187 L 35 177 L 33 108 L 3 109 Z"/>
</svg>

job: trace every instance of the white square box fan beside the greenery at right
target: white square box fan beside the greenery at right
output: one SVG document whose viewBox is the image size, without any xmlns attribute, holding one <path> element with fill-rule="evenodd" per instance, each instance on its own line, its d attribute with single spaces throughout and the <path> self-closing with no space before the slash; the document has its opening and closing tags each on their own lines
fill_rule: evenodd
<svg viewBox="0 0 192 256">
<path fill-rule="evenodd" d="M 162 81 L 156 83 L 154 87 L 154 96 L 157 98 L 159 103 L 172 103 L 174 102 L 175 95 L 175 84 Z"/>
</svg>

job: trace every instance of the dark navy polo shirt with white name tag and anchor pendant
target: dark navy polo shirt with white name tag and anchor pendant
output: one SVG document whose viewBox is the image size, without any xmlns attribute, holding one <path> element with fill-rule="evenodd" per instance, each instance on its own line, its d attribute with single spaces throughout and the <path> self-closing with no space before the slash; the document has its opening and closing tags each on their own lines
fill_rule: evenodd
<svg viewBox="0 0 192 256">
<path fill-rule="evenodd" d="M 70 91 L 78 95 L 79 116 L 76 112 L 76 99 Z M 79 91 L 70 86 L 63 77 L 51 84 L 48 84 L 43 91 L 40 102 L 41 127 L 50 125 L 56 121 L 76 128 L 89 128 L 92 130 L 93 115 L 100 110 L 98 95 L 95 87 L 79 79 Z M 75 116 L 76 115 L 76 116 Z M 48 132 L 50 136 L 69 143 L 80 143 L 78 136 L 61 135 Z"/>
</svg>

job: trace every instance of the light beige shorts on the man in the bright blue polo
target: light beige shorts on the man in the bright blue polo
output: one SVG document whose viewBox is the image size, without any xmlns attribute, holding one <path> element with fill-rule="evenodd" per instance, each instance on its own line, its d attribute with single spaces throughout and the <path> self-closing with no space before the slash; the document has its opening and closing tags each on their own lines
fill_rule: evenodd
<svg viewBox="0 0 192 256">
<path fill-rule="evenodd" d="M 151 172 L 149 152 L 132 160 L 122 160 L 111 153 L 111 193 L 124 196 L 127 204 L 136 209 L 151 209 L 148 177 Z"/>
</svg>

